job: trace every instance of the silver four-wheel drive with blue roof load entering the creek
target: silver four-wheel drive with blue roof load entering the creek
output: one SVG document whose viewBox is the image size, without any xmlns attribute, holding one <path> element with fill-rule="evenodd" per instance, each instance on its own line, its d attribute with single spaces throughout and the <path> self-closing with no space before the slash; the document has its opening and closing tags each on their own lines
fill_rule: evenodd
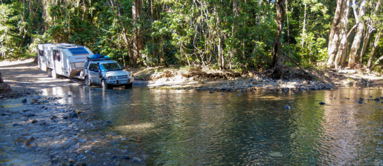
<svg viewBox="0 0 383 166">
<path fill-rule="evenodd" d="M 85 85 L 101 85 L 102 89 L 110 89 L 113 86 L 125 86 L 131 88 L 134 77 L 128 71 L 110 58 L 87 58 L 84 65 Z"/>
</svg>

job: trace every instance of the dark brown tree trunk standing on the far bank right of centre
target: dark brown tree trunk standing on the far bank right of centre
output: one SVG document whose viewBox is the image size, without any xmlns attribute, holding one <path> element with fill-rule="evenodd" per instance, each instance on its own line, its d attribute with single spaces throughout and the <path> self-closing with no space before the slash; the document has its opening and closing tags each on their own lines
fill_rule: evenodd
<svg viewBox="0 0 383 166">
<path fill-rule="evenodd" d="M 282 0 L 276 0 L 275 2 L 277 8 L 277 36 L 274 37 L 274 48 L 273 48 L 273 62 L 271 67 L 274 68 L 278 66 L 279 60 L 279 38 L 281 37 L 283 30 L 283 19 L 285 15 L 285 9 L 283 8 Z"/>
</svg>

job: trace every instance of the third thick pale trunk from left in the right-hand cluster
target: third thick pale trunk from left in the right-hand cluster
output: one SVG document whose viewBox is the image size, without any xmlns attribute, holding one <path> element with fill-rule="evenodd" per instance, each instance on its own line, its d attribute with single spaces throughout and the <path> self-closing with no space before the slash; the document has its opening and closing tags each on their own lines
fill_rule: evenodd
<svg viewBox="0 0 383 166">
<path fill-rule="evenodd" d="M 355 4 L 353 4 L 355 5 Z M 359 20 L 359 25 L 357 29 L 357 33 L 355 34 L 353 44 L 351 45 L 350 49 L 350 55 L 349 55 L 349 67 L 354 67 L 355 65 L 355 60 L 356 60 L 356 55 L 358 53 L 358 49 L 360 47 L 360 43 L 363 37 L 363 31 L 365 30 L 365 21 L 363 20 L 363 17 L 365 16 L 365 7 L 366 6 L 366 0 L 361 0 L 360 1 L 360 6 L 359 6 L 359 16 L 361 20 Z"/>
</svg>

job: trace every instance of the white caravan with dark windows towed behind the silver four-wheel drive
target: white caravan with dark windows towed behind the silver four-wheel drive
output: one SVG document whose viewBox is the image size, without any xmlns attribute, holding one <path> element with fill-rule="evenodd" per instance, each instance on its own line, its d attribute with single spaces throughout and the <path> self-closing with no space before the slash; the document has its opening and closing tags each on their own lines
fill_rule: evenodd
<svg viewBox="0 0 383 166">
<path fill-rule="evenodd" d="M 89 48 L 74 44 L 38 44 L 38 67 L 48 76 L 58 78 L 83 78 L 84 63 L 93 55 Z"/>
</svg>

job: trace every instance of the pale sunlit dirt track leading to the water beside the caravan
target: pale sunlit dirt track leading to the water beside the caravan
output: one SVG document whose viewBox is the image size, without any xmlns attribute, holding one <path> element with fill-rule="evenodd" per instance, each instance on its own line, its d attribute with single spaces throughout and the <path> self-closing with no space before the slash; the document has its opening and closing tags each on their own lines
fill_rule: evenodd
<svg viewBox="0 0 383 166">
<path fill-rule="evenodd" d="M 54 79 L 32 63 L 33 59 L 19 61 L 0 61 L 0 71 L 4 82 L 13 88 L 25 87 L 44 89 L 56 86 L 82 84 L 81 80 L 60 77 Z"/>
</svg>

